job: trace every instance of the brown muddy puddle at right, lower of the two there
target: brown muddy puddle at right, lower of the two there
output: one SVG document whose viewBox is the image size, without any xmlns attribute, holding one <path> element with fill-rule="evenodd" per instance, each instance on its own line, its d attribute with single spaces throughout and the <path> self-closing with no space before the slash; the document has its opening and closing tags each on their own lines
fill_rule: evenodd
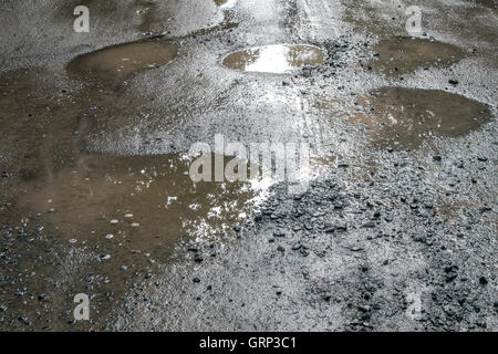
<svg viewBox="0 0 498 354">
<path fill-rule="evenodd" d="M 492 119 L 489 107 L 445 91 L 384 87 L 359 100 L 366 114 L 350 121 L 370 128 L 377 148 L 418 148 L 435 137 L 458 137 Z"/>
</svg>

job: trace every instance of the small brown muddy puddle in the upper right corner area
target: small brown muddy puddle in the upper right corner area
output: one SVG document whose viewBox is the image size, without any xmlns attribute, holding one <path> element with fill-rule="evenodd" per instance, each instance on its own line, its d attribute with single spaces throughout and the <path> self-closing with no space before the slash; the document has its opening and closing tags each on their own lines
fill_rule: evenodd
<svg viewBox="0 0 498 354">
<path fill-rule="evenodd" d="M 404 75 L 418 69 L 450 66 L 461 60 L 458 46 L 428 39 L 396 37 L 381 40 L 374 46 L 370 66 L 386 75 Z"/>
</svg>

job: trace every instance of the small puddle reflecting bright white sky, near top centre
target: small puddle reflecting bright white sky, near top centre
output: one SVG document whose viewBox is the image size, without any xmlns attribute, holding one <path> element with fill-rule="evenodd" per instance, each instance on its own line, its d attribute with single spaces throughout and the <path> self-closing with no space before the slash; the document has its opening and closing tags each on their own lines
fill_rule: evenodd
<svg viewBox="0 0 498 354">
<path fill-rule="evenodd" d="M 320 65 L 324 61 L 325 53 L 317 46 L 274 44 L 228 54 L 222 64 L 234 70 L 283 74 L 305 64 Z"/>
</svg>

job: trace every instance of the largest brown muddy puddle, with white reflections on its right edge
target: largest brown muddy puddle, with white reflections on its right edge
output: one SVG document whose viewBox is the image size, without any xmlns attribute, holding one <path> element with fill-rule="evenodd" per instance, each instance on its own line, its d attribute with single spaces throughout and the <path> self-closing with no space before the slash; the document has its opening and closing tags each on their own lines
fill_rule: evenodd
<svg viewBox="0 0 498 354">
<path fill-rule="evenodd" d="M 24 210 L 40 212 L 64 242 L 113 242 L 167 259 L 179 239 L 216 239 L 251 212 L 242 183 L 198 183 L 191 158 L 86 156 L 75 167 L 20 188 Z"/>
</svg>

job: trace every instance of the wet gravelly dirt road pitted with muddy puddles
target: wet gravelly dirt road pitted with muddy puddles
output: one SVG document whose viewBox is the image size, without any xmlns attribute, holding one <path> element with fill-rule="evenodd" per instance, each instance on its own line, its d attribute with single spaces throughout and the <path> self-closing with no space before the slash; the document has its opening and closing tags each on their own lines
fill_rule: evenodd
<svg viewBox="0 0 498 354">
<path fill-rule="evenodd" d="M 498 330 L 496 2 L 413 4 L 3 1 L 0 330 Z"/>
</svg>

